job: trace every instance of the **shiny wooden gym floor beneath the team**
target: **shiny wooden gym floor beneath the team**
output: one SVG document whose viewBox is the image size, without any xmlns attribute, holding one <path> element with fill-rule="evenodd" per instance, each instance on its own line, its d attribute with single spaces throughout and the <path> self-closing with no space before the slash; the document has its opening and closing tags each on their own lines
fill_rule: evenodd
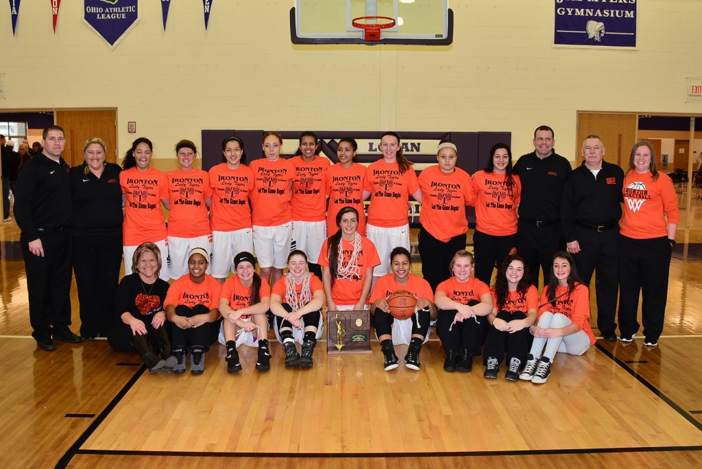
<svg viewBox="0 0 702 469">
<path fill-rule="evenodd" d="M 702 225 L 699 202 L 693 217 Z M 377 343 L 365 355 L 319 343 L 309 370 L 284 369 L 273 343 L 266 374 L 244 347 L 236 375 L 215 345 L 202 376 L 149 374 L 104 340 L 43 352 L 18 239 L 4 223 L 0 467 L 702 467 L 702 228 L 678 231 L 660 345 L 598 340 L 583 357 L 557 355 L 545 385 L 505 381 L 504 364 L 486 381 L 479 359 L 445 373 L 437 341 L 421 371 L 390 373 Z M 72 303 L 77 332 L 75 286 Z"/>
</svg>

